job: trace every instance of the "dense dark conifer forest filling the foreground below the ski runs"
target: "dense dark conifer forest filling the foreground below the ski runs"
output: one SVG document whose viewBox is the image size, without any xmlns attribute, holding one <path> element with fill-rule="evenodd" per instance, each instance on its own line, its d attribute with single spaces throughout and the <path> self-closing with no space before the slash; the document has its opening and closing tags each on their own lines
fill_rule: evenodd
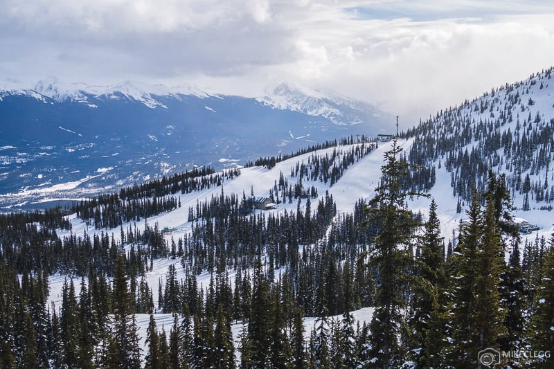
<svg viewBox="0 0 554 369">
<path fill-rule="evenodd" d="M 474 368 L 483 348 L 551 349 L 554 235 L 521 246 L 506 177 L 488 172 L 445 244 L 435 202 L 425 221 L 408 207 L 408 197 L 425 195 L 402 186 L 417 168 L 396 144 L 385 159 L 375 197 L 352 215 L 337 216 L 328 193 L 298 199 L 296 211 L 249 213 L 222 190 L 177 241 L 148 224 L 120 226 L 118 240 L 59 237 L 59 210 L 5 215 L 2 366 L 139 368 L 135 313 L 152 316 L 148 368 Z M 159 258 L 175 263 L 150 286 Z M 46 303 L 55 272 L 80 279 L 79 292 L 66 281 L 61 306 Z M 207 286 L 197 282 L 203 272 Z M 361 307 L 373 307 L 373 318 L 357 324 Z M 174 314 L 169 332 L 156 327 L 160 312 Z M 305 316 L 316 317 L 307 333 Z"/>
</svg>

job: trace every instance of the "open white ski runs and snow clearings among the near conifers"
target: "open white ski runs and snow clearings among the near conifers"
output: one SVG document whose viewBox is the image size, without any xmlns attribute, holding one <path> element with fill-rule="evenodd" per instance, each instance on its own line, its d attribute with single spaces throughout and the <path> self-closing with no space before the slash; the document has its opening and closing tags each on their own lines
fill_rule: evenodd
<svg viewBox="0 0 554 369">
<path fill-rule="evenodd" d="M 398 145 L 407 152 L 411 149 L 414 139 L 401 140 L 398 141 Z M 317 188 L 319 194 L 325 193 L 328 191 L 335 203 L 337 204 L 337 217 L 339 219 L 341 215 L 345 213 L 352 213 L 355 207 L 355 202 L 358 199 L 370 199 L 374 195 L 375 186 L 379 181 L 380 177 L 380 168 L 383 165 L 384 152 L 391 149 L 392 142 L 386 142 L 379 144 L 379 147 L 373 152 L 370 152 L 367 156 L 364 156 L 362 159 L 356 163 L 350 165 L 348 170 L 343 174 L 343 176 L 332 186 L 330 183 L 323 183 L 319 180 L 304 182 L 304 186 L 314 186 Z M 348 149 L 355 147 L 356 145 L 347 145 L 339 147 L 339 152 L 347 152 Z M 274 183 L 279 180 L 280 175 L 283 173 L 288 178 L 287 173 L 290 173 L 291 168 L 296 166 L 296 163 L 302 163 L 313 159 L 314 156 L 330 156 L 335 150 L 335 148 L 329 148 L 325 150 L 319 150 L 317 152 L 310 152 L 303 154 L 301 156 L 296 156 L 292 159 L 281 161 L 275 165 L 274 168 L 268 170 L 267 168 L 262 167 L 251 167 L 251 168 L 242 168 L 241 174 L 238 177 L 235 177 L 232 180 L 225 181 L 221 187 L 209 188 L 199 192 L 191 192 L 189 194 L 181 194 L 181 208 L 172 210 L 169 213 L 163 213 L 156 217 L 152 217 L 147 220 L 148 224 L 159 224 L 160 228 L 168 227 L 172 228 L 172 233 L 165 235 L 166 241 L 169 243 L 171 240 L 177 240 L 179 237 L 186 237 L 189 233 L 193 231 L 193 222 L 188 222 L 188 209 L 190 207 L 196 206 L 198 202 L 202 202 L 205 199 L 211 199 L 212 197 L 218 197 L 222 192 L 226 195 L 236 194 L 238 197 L 242 196 L 242 193 L 249 193 L 252 189 L 255 192 L 256 196 L 267 196 L 269 190 L 273 188 Z M 289 180 L 292 178 L 289 178 Z M 452 195 L 452 190 L 450 188 L 450 178 L 447 172 L 439 171 L 437 175 L 437 180 L 434 188 L 431 190 L 431 194 L 436 203 L 438 204 L 438 216 L 441 222 L 441 228 L 443 230 L 443 235 L 448 240 L 449 237 L 452 237 L 452 231 L 457 229 L 461 219 L 464 219 L 465 215 L 463 213 L 456 213 L 456 197 Z M 419 198 L 411 200 L 409 206 L 415 212 L 421 211 L 422 213 L 427 213 L 429 208 L 430 199 Z M 296 210 L 297 202 L 293 201 L 292 204 L 281 203 L 278 208 L 271 210 L 255 210 L 257 214 L 264 213 L 266 216 L 269 213 L 284 213 Z M 305 201 L 302 201 L 302 209 L 305 206 Z M 550 213 L 546 210 L 516 210 L 514 215 L 516 217 L 522 217 L 528 219 L 529 222 L 533 222 L 540 227 L 540 230 L 532 235 L 528 235 L 530 240 L 533 240 L 537 235 L 540 237 L 545 235 L 548 237 L 553 231 Z M 105 230 L 95 230 L 80 219 L 72 217 L 71 223 L 73 229 L 71 233 L 73 235 L 83 235 L 87 233 L 93 235 L 94 233 L 102 233 Z M 145 222 L 138 222 L 136 224 L 124 224 L 123 228 L 129 226 L 136 227 L 139 230 L 143 230 Z M 60 235 L 63 236 L 64 233 L 69 235 L 69 231 L 60 232 Z M 118 229 L 114 230 L 113 235 L 114 239 L 117 241 L 119 237 Z M 159 259 L 153 262 L 152 271 L 146 273 L 146 280 L 150 286 L 157 286 L 159 280 L 166 280 L 166 272 L 170 264 L 175 264 L 178 271 L 177 278 L 185 278 L 184 269 L 180 267 L 179 260 L 173 260 L 170 258 Z M 278 271 L 276 271 L 278 273 Z M 231 282 L 234 280 L 235 271 L 229 271 L 229 278 Z M 202 285 L 202 288 L 208 286 L 211 275 L 207 272 L 202 273 L 197 276 L 197 281 L 199 285 Z M 56 305 L 60 305 L 60 291 L 63 284 L 64 276 L 54 276 L 51 278 L 51 296 L 50 299 Z M 157 301 L 154 297 L 154 304 L 157 305 Z M 370 321 L 372 316 L 373 309 L 366 308 L 361 309 L 357 312 L 354 312 L 355 318 L 359 321 Z M 169 330 L 172 317 L 170 314 L 156 314 L 155 316 L 159 329 L 165 325 L 166 330 Z M 140 326 L 139 334 L 144 340 L 145 330 L 148 326 L 148 316 L 145 314 L 139 314 L 137 316 L 137 322 Z M 314 325 L 314 318 L 307 317 L 305 318 L 305 334 L 309 334 L 311 327 Z M 238 336 L 240 330 L 242 329 L 242 323 L 233 324 L 233 336 L 238 343 Z M 142 341 L 144 343 L 144 341 Z M 238 345 L 238 344 L 237 344 Z"/>
</svg>

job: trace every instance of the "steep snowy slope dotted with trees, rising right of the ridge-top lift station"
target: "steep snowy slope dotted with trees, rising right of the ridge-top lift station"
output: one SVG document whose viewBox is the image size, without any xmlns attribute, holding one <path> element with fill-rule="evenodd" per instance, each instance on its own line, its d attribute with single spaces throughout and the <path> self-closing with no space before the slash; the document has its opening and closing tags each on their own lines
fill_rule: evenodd
<svg viewBox="0 0 554 369">
<path fill-rule="evenodd" d="M 554 201 L 553 69 L 492 89 L 481 98 L 440 111 L 406 132 L 411 163 L 445 168 L 452 193 L 470 201 L 483 192 L 488 171 L 506 175 L 515 205 L 552 208 Z M 521 195 L 521 196 L 520 196 Z"/>
</svg>

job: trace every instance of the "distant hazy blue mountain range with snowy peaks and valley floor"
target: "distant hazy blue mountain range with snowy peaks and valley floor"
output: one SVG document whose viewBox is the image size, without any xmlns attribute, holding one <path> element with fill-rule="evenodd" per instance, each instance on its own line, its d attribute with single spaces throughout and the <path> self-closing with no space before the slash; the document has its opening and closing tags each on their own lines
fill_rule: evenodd
<svg viewBox="0 0 554 369">
<path fill-rule="evenodd" d="M 391 130 L 376 107 L 281 84 L 267 96 L 135 82 L 0 89 L 0 206 L 97 193 Z M 17 196 L 14 196 L 17 195 Z"/>
</svg>

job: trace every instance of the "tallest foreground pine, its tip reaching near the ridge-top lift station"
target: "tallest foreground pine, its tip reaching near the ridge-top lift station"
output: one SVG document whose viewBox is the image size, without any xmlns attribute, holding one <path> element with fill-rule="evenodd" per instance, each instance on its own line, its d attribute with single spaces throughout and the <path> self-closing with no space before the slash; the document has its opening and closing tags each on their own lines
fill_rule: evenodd
<svg viewBox="0 0 554 369">
<path fill-rule="evenodd" d="M 411 241 L 418 228 L 413 213 L 406 208 L 406 197 L 418 195 L 402 190 L 402 181 L 409 174 L 409 165 L 397 158 L 402 148 L 393 143 L 385 153 L 382 179 L 377 194 L 368 204 L 370 222 L 377 226 L 370 262 L 378 272 L 375 312 L 370 324 L 373 365 L 395 368 L 404 361 L 404 341 L 410 288 L 409 269 L 413 253 Z M 399 337 L 404 337 L 399 343 Z"/>
</svg>

